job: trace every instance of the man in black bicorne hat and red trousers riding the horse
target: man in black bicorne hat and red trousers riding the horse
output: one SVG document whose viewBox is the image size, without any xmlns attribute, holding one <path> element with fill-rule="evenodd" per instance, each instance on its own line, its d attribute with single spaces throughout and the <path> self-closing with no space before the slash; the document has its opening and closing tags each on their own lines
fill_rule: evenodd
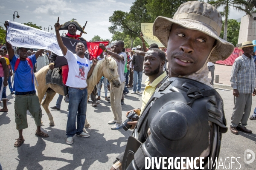
<svg viewBox="0 0 256 170">
<path fill-rule="evenodd" d="M 78 34 L 76 34 L 77 30 L 81 31 L 83 33 L 85 33 L 85 32 L 82 29 L 82 27 L 79 25 L 79 23 L 76 22 L 75 20 L 76 19 L 72 19 L 71 21 L 64 23 L 64 25 L 61 26 L 61 28 L 59 30 L 67 30 L 68 31 L 68 33 L 66 34 L 65 37 L 76 39 L 76 40 L 81 40 L 81 41 L 86 41 L 86 40 L 84 40 L 84 38 L 82 38 Z M 51 70 L 53 70 L 53 68 L 54 68 L 56 58 L 57 58 L 57 54 L 52 53 L 51 57 L 50 57 L 50 62 L 49 62 L 49 68 Z M 68 70 L 69 70 L 68 65 L 64 65 L 60 68 L 60 71 L 59 71 L 59 73 L 62 74 L 65 102 L 69 102 L 68 86 L 66 86 Z M 63 98 L 63 96 L 59 95 L 58 100 L 57 100 L 58 103 L 56 103 L 55 106 L 50 107 L 50 108 L 60 110 L 60 107 L 58 107 L 58 106 L 61 105 L 62 98 Z"/>
</svg>

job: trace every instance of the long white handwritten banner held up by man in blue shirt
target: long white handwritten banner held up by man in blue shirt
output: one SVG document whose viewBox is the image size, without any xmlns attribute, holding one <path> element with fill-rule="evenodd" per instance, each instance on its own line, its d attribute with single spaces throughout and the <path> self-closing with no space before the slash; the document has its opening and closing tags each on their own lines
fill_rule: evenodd
<svg viewBox="0 0 256 170">
<path fill-rule="evenodd" d="M 45 49 L 63 56 L 55 34 L 10 20 L 8 22 L 6 40 L 12 46 Z"/>
</svg>

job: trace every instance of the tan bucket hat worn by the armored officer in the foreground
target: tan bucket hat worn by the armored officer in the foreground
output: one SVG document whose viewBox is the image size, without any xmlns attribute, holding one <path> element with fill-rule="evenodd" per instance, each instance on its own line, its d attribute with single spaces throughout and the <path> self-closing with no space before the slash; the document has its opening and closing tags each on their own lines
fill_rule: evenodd
<svg viewBox="0 0 256 170">
<path fill-rule="evenodd" d="M 224 60 L 233 53 L 234 45 L 219 37 L 222 26 L 221 14 L 209 3 L 189 1 L 181 4 L 173 19 L 157 17 L 153 24 L 153 34 L 166 48 L 173 23 L 201 31 L 217 40 L 218 43 L 208 59 L 209 62 Z"/>
</svg>

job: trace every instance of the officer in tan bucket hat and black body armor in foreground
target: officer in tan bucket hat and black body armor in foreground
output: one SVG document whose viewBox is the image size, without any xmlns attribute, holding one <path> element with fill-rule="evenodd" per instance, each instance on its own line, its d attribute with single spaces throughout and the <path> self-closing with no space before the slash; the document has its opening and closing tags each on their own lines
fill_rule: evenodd
<svg viewBox="0 0 256 170">
<path fill-rule="evenodd" d="M 234 50 L 219 38 L 221 26 L 219 11 L 198 1 L 183 3 L 173 19 L 157 17 L 153 34 L 168 49 L 169 76 L 149 99 L 125 153 L 111 169 L 143 170 L 145 157 L 204 157 L 208 169 L 208 160 L 218 159 L 227 127 L 223 100 L 207 77 L 207 61 L 224 60 Z"/>
</svg>

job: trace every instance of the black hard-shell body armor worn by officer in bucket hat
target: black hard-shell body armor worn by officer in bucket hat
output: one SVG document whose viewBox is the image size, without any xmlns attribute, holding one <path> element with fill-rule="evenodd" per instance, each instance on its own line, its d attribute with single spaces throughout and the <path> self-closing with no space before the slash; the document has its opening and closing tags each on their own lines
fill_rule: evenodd
<svg viewBox="0 0 256 170">
<path fill-rule="evenodd" d="M 208 158 L 218 159 L 225 132 L 223 100 L 215 89 L 192 79 L 166 77 L 128 139 L 122 169 L 145 169 L 145 157 L 195 158 L 208 148 L 207 170 Z"/>
</svg>

